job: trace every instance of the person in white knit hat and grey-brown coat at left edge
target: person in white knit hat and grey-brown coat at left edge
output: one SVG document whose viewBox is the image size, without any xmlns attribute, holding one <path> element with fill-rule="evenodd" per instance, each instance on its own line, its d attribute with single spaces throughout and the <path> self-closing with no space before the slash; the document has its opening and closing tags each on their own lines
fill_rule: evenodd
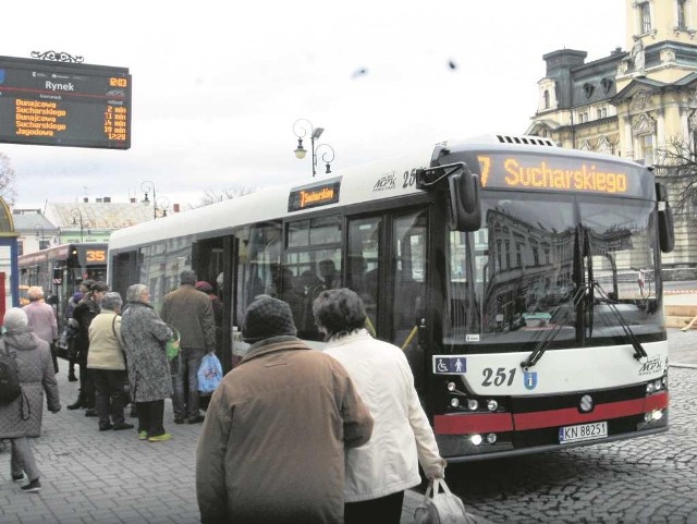
<svg viewBox="0 0 697 524">
<path fill-rule="evenodd" d="M 7 333 L 0 339 L 0 351 L 12 356 L 17 364 L 22 394 L 9 404 L 0 404 L 0 439 L 10 439 L 12 456 L 10 468 L 15 483 L 29 483 L 20 490 L 34 493 L 41 489 L 40 472 L 29 444 L 30 437 L 41 436 L 44 392 L 51 413 L 61 410 L 58 382 L 53 373 L 51 349 L 28 327 L 26 313 L 12 307 L 4 314 Z"/>
</svg>

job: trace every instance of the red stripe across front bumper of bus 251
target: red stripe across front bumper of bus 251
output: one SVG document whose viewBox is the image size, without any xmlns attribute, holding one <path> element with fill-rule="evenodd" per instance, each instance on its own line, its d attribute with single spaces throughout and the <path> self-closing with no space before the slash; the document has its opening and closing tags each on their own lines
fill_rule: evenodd
<svg viewBox="0 0 697 524">
<path fill-rule="evenodd" d="M 645 399 L 627 400 L 597 405 L 590 413 L 579 413 L 577 407 L 539 411 L 535 413 L 466 413 L 462 415 L 436 415 L 433 431 L 438 435 L 465 435 L 491 431 L 538 429 L 567 426 L 595 421 L 608 421 L 638 415 L 652 410 L 668 407 L 668 391 Z"/>
</svg>

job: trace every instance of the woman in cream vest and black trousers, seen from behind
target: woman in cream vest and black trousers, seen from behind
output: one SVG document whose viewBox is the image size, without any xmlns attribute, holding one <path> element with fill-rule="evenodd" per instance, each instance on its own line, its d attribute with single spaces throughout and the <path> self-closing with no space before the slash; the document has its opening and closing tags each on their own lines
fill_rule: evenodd
<svg viewBox="0 0 697 524">
<path fill-rule="evenodd" d="M 121 345 L 122 304 L 119 293 L 105 293 L 101 310 L 89 325 L 87 368 L 95 381 L 95 407 L 100 431 L 133 429 L 133 424 L 127 424 L 123 416 L 129 399 L 124 389 L 127 376 Z"/>
</svg>

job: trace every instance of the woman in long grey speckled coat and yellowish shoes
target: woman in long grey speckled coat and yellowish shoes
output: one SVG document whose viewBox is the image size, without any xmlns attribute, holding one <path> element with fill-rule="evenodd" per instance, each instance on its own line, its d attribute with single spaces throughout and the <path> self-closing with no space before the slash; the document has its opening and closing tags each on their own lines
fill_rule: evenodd
<svg viewBox="0 0 697 524">
<path fill-rule="evenodd" d="M 131 285 L 126 302 L 129 305 L 121 317 L 121 340 L 126 353 L 131 395 L 138 412 L 138 438 L 161 442 L 172 438 L 164 431 L 162 418 L 164 399 L 172 397 L 164 344 L 173 332 L 150 305 L 147 285 Z"/>
</svg>

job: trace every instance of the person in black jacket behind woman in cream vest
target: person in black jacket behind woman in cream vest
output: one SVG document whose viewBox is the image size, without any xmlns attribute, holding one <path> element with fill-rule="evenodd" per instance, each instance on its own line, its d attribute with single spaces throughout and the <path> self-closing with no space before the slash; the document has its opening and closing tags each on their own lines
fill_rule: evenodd
<svg viewBox="0 0 697 524">
<path fill-rule="evenodd" d="M 95 410 L 95 382 L 89 369 L 87 369 L 87 353 L 89 352 L 89 325 L 99 315 L 99 304 L 109 291 L 109 287 L 102 281 L 96 281 L 89 287 L 89 292 L 80 301 L 73 310 L 70 322 L 77 329 L 75 346 L 77 356 L 75 362 L 80 365 L 80 394 L 77 400 L 68 406 L 69 410 L 86 407 L 85 416 L 97 416 Z"/>
</svg>

